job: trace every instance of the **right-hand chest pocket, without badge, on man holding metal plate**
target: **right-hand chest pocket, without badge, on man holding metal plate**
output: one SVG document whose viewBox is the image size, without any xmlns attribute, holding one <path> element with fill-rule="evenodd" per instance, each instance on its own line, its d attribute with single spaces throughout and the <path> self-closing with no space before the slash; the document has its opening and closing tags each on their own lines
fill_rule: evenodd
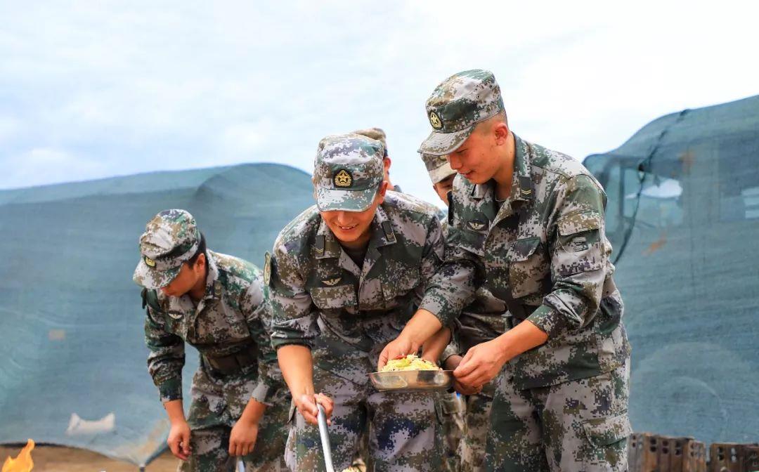
<svg viewBox="0 0 759 472">
<path fill-rule="evenodd" d="M 546 258 L 539 236 L 513 241 L 506 252 L 509 262 L 509 287 L 512 297 L 520 298 L 540 291 L 543 279 L 550 274 L 550 265 Z"/>
</svg>

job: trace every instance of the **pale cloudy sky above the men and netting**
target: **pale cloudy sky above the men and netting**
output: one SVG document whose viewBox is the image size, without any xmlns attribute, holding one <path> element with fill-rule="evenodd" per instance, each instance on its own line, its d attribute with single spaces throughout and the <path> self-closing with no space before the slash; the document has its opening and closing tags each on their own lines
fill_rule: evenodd
<svg viewBox="0 0 759 472">
<path fill-rule="evenodd" d="M 435 197 L 424 100 L 487 68 L 509 124 L 582 159 L 668 112 L 759 93 L 757 2 L 0 0 L 0 188 L 165 169 L 312 169 L 379 126 Z"/>
</svg>

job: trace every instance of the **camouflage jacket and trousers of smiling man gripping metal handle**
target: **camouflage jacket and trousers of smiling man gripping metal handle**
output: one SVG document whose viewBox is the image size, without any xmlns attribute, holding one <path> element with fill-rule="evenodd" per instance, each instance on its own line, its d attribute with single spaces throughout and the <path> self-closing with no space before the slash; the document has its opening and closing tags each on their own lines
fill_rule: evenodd
<svg viewBox="0 0 759 472">
<path fill-rule="evenodd" d="M 449 324 L 465 302 L 455 297 L 463 281 L 457 282 L 455 267 L 438 270 L 443 239 L 430 204 L 389 191 L 370 231 L 361 267 L 342 250 L 315 206 L 280 232 L 269 259 L 272 344 L 310 348 L 317 392 L 335 398 L 338 417 L 350 418 L 330 429 L 334 456 L 345 461 L 335 467 L 350 465 L 364 427 L 357 418 L 368 414 L 375 470 L 433 470 L 429 464 L 440 460 L 433 397 L 373 393 L 368 374 L 417 307 Z M 391 403 L 392 408 L 381 407 Z M 298 470 L 323 470 L 309 452 L 319 448 L 317 429 L 298 418 L 293 436 L 307 446 L 297 448 Z"/>
</svg>

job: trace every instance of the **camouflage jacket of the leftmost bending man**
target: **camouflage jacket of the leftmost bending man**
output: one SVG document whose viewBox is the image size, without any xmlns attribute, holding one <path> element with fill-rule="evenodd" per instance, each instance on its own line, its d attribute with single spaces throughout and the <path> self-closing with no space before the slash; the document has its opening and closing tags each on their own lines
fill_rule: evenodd
<svg viewBox="0 0 759 472">
<path fill-rule="evenodd" d="M 222 357 L 257 345 L 257 363 L 241 373 L 256 379 L 253 398 L 272 404 L 284 390 L 276 353 L 269 342 L 271 308 L 260 269 L 245 260 L 206 250 L 206 294 L 197 307 L 188 295 L 157 291 L 161 311 L 147 308 L 148 370 L 161 401 L 182 398 L 184 343 L 200 351 L 200 368 L 216 377 L 204 357 Z"/>
</svg>

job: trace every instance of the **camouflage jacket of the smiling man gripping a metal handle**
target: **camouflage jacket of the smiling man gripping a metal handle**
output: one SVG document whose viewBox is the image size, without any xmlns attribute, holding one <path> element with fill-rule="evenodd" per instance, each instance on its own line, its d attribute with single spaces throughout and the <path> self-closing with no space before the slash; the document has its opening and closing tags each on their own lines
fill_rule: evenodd
<svg viewBox="0 0 759 472">
<path fill-rule="evenodd" d="M 370 231 L 358 267 L 312 206 L 282 229 L 269 262 L 272 344 L 307 346 L 318 367 L 359 384 L 416 307 L 447 325 L 465 302 L 463 271 L 438 271 L 444 242 L 429 203 L 389 191 Z"/>
</svg>

